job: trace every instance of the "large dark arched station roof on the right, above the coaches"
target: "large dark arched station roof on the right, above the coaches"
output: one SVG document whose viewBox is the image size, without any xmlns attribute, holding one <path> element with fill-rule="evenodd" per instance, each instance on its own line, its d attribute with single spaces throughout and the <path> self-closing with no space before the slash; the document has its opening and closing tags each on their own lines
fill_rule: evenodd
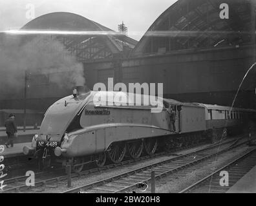
<svg viewBox="0 0 256 206">
<path fill-rule="evenodd" d="M 229 6 L 229 19 L 220 18 L 222 3 Z M 250 44 L 255 5 L 255 0 L 178 0 L 150 26 L 132 55 Z"/>
</svg>

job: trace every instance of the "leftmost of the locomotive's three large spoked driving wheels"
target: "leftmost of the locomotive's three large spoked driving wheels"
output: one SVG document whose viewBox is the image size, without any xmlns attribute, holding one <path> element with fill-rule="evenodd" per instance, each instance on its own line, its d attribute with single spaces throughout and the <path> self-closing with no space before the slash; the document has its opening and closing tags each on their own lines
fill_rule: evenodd
<svg viewBox="0 0 256 206">
<path fill-rule="evenodd" d="M 123 143 L 111 144 L 108 150 L 108 156 L 111 162 L 118 164 L 122 162 L 123 157 L 125 156 L 126 147 Z"/>
</svg>

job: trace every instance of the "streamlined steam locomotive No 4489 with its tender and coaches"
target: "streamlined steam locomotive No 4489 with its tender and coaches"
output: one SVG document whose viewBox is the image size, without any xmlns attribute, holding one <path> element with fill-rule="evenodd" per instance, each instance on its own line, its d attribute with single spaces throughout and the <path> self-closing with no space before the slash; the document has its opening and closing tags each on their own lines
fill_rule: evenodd
<svg viewBox="0 0 256 206">
<path fill-rule="evenodd" d="M 120 104 L 112 102 L 118 97 Z M 85 91 L 77 88 L 73 95 L 61 98 L 45 113 L 39 133 L 24 154 L 33 154 L 42 165 L 68 160 L 80 172 L 83 165 L 96 162 L 101 167 L 107 159 L 119 163 L 125 155 L 138 158 L 154 154 L 157 147 L 200 142 L 208 131 L 242 126 L 255 117 L 253 109 L 237 109 L 148 96 L 154 104 L 133 104 L 129 93 L 122 91 Z M 159 109 L 152 112 L 152 109 Z M 168 109 L 176 113 L 176 131 L 170 125 Z M 167 144 L 168 143 L 168 144 Z"/>
</svg>

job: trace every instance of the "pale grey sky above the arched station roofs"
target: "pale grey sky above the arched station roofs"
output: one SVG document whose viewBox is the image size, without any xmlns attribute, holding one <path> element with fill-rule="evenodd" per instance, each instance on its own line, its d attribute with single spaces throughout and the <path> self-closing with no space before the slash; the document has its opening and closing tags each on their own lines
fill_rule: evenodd
<svg viewBox="0 0 256 206">
<path fill-rule="evenodd" d="M 176 0 L 0 0 L 0 30 L 18 30 L 34 17 L 50 12 L 72 12 L 117 30 L 125 23 L 128 35 L 140 40 L 155 19 Z M 27 8 L 26 8 L 27 7 Z M 134 32 L 136 34 L 134 34 Z"/>
</svg>

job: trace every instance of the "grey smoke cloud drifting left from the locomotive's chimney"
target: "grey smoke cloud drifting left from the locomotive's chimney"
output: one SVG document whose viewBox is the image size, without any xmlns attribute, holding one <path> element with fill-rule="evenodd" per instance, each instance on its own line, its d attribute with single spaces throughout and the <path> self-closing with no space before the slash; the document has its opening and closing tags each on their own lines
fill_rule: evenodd
<svg viewBox="0 0 256 206">
<path fill-rule="evenodd" d="M 45 75 L 49 83 L 59 88 L 85 84 L 83 64 L 76 61 L 61 42 L 42 36 L 25 44 L 21 41 L 24 42 L 13 37 L 0 44 L 0 91 L 24 87 L 25 71 L 30 79 L 28 84 L 36 83 L 38 75 Z"/>
</svg>

